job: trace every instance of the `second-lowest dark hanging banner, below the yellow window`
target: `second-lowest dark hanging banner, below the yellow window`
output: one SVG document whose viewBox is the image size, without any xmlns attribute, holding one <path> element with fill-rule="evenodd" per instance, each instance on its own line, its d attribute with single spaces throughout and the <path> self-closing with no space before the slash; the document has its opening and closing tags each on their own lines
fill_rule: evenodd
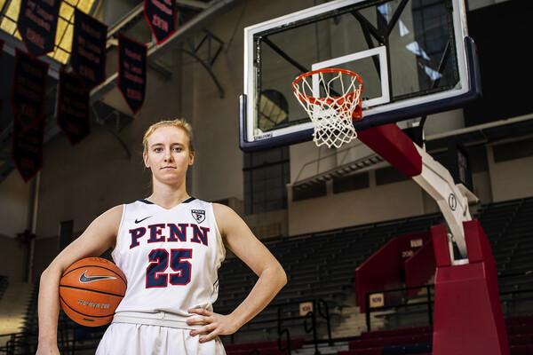
<svg viewBox="0 0 533 355">
<path fill-rule="evenodd" d="M 57 122 L 71 146 L 76 146 L 91 131 L 89 91 L 76 75 L 60 70 Z"/>
</svg>

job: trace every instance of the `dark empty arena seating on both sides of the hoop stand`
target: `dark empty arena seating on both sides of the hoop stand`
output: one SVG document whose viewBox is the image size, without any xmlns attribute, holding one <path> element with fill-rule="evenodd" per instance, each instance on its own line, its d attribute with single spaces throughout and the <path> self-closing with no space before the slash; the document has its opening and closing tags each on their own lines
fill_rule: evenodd
<svg viewBox="0 0 533 355">
<path fill-rule="evenodd" d="M 533 289 L 533 197 L 481 205 L 473 214 L 480 220 L 492 245 L 497 262 L 498 283 L 501 291 Z M 442 224 L 440 213 L 402 218 L 369 225 L 322 233 L 309 233 L 265 241 L 285 268 L 289 283 L 276 296 L 272 305 L 243 327 L 246 341 L 273 339 L 277 334 L 276 306 L 291 302 L 323 298 L 330 306 L 333 322 L 338 321 L 338 310 L 346 300 L 354 297 L 354 269 L 391 238 L 404 233 L 428 231 L 431 225 Z M 250 291 L 255 275 L 235 257 L 229 257 L 220 269 L 220 296 L 215 304 L 219 312 L 230 311 Z M 529 286 L 531 285 L 531 286 Z M 530 294 L 501 296 L 505 316 L 524 312 L 533 313 L 525 305 Z M 523 301 L 523 302 L 522 302 Z M 518 307 L 518 308 L 517 308 Z M 298 308 L 285 307 L 282 317 L 298 316 Z M 301 320 L 289 321 L 291 334 L 298 332 Z M 237 337 L 234 341 L 239 342 Z"/>
</svg>

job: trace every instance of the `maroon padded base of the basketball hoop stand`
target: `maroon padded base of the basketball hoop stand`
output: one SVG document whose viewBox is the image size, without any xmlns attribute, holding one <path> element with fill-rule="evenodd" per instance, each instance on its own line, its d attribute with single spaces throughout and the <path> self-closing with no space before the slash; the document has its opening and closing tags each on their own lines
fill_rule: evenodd
<svg viewBox="0 0 533 355">
<path fill-rule="evenodd" d="M 464 222 L 463 226 L 468 252 L 483 250 L 482 259 L 437 267 L 433 354 L 508 355 L 496 264 L 486 253 L 489 241 L 477 220 Z M 434 232 L 442 234 L 442 230 L 432 229 Z"/>
</svg>

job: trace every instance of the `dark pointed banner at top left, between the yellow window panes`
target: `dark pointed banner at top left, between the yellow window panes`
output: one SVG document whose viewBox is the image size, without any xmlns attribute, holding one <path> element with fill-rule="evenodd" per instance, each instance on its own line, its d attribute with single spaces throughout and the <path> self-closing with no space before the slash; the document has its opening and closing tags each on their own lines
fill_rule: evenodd
<svg viewBox="0 0 533 355">
<path fill-rule="evenodd" d="M 34 57 L 53 51 L 60 0 L 21 0 L 17 27 Z"/>
</svg>

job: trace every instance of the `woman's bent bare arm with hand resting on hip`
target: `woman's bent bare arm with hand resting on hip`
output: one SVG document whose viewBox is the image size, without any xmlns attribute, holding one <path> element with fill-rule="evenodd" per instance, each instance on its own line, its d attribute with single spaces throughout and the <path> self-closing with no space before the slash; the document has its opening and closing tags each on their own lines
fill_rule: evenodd
<svg viewBox="0 0 533 355">
<path fill-rule="evenodd" d="M 282 265 L 268 251 L 267 247 L 251 233 L 243 219 L 227 206 L 215 203 L 213 209 L 226 247 L 243 260 L 244 264 L 247 264 L 259 276 L 259 280 L 243 303 L 239 304 L 234 312 L 228 315 L 203 309 L 189 310 L 190 313 L 196 313 L 199 317 L 188 319 L 187 323 L 189 325 L 203 324 L 203 327 L 191 331 L 191 335 L 207 333 L 200 337 L 201 343 L 207 342 L 217 335 L 235 333 L 267 307 L 267 304 L 287 283 L 287 276 Z"/>
</svg>

